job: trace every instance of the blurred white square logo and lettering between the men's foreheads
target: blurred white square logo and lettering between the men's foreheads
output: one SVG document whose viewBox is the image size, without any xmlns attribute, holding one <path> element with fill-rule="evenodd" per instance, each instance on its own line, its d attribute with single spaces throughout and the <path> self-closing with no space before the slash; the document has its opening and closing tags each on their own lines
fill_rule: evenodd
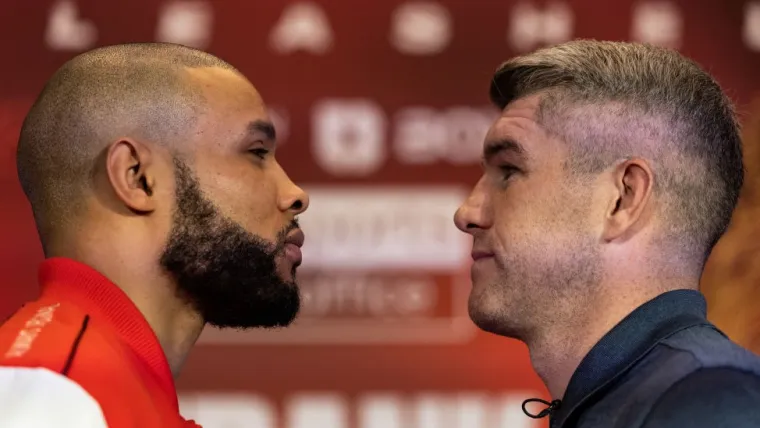
<svg viewBox="0 0 760 428">
<path fill-rule="evenodd" d="M 412 105 L 388 114 L 369 98 L 328 98 L 312 108 L 311 151 L 314 162 L 336 177 L 371 176 L 390 158 L 408 166 L 477 165 L 498 115 L 492 106 L 461 105 Z"/>
</svg>

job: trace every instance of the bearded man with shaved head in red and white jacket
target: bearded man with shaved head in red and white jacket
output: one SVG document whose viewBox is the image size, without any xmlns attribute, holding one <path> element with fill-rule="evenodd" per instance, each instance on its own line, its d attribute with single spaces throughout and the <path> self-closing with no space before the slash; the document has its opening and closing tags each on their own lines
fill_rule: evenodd
<svg viewBox="0 0 760 428">
<path fill-rule="evenodd" d="M 77 56 L 18 144 L 46 260 L 0 327 L 0 426 L 194 426 L 174 378 L 208 323 L 284 327 L 307 195 L 235 68 L 171 44 Z"/>
</svg>

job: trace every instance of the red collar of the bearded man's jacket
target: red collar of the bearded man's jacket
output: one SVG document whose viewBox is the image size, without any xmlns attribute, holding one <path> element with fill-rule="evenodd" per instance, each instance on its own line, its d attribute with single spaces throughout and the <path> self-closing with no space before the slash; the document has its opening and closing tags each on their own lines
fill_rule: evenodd
<svg viewBox="0 0 760 428">
<path fill-rule="evenodd" d="M 137 306 L 117 285 L 90 266 L 62 257 L 42 263 L 39 281 L 44 296 L 73 300 L 85 311 L 96 312 L 107 321 L 150 367 L 178 409 L 174 378 L 158 338 Z"/>
</svg>

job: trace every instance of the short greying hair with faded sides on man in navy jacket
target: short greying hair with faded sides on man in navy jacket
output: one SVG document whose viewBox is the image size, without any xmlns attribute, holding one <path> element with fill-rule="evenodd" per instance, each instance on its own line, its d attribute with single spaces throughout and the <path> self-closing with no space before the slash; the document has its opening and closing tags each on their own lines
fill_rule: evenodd
<svg viewBox="0 0 760 428">
<path fill-rule="evenodd" d="M 498 68 L 496 106 L 533 94 L 542 95 L 538 122 L 569 145 L 569 171 L 647 159 L 666 220 L 662 239 L 704 263 L 744 180 L 734 108 L 708 73 L 671 49 L 576 40 Z"/>
</svg>

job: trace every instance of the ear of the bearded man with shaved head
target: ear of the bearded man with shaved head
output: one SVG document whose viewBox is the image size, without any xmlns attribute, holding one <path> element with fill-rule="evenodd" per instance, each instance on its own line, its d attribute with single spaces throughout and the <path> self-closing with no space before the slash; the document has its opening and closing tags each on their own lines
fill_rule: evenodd
<svg viewBox="0 0 760 428">
<path fill-rule="evenodd" d="M 122 138 L 106 152 L 106 173 L 116 196 L 130 210 L 146 214 L 156 209 L 153 196 L 154 154 L 136 140 Z"/>
</svg>

